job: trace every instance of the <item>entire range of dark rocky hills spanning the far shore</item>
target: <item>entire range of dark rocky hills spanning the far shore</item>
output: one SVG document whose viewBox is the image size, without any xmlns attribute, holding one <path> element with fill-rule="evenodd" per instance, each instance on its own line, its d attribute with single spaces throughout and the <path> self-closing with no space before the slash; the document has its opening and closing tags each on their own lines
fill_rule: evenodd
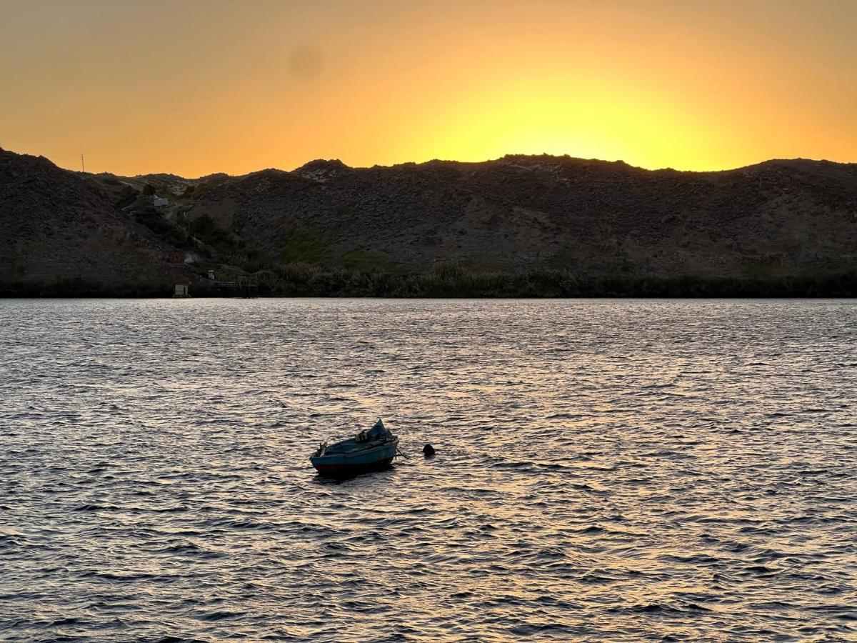
<svg viewBox="0 0 857 643">
<path fill-rule="evenodd" d="M 169 206 L 153 207 L 156 196 Z M 80 175 L 3 152 L 0 198 L 5 284 L 261 270 L 271 291 L 287 293 L 282 279 L 309 270 L 305 294 L 389 294 L 399 292 L 390 279 L 454 267 L 468 279 L 551 273 L 578 285 L 623 283 L 621 294 L 643 281 L 857 288 L 857 164 L 796 159 L 680 172 L 552 156 L 364 169 L 319 160 L 189 180 Z M 166 263 L 170 249 L 194 263 Z M 312 285 L 328 273 L 339 285 Z M 355 274 L 361 283 L 384 275 L 387 285 L 355 291 Z M 496 290 L 486 288 L 476 293 Z"/>
</svg>

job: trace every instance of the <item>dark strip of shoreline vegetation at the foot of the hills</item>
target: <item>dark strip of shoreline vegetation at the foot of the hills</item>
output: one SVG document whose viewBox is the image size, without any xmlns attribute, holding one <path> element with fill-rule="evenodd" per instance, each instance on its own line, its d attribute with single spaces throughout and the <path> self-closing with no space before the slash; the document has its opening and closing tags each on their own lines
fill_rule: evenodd
<svg viewBox="0 0 857 643">
<path fill-rule="evenodd" d="M 561 270 L 522 273 L 379 273 L 290 266 L 257 274 L 261 297 L 558 298 L 558 297 L 857 297 L 857 273 L 782 279 L 590 278 Z M 84 279 L 0 284 L 0 297 L 171 297 L 173 284 Z M 201 279 L 191 297 L 230 297 Z"/>
</svg>

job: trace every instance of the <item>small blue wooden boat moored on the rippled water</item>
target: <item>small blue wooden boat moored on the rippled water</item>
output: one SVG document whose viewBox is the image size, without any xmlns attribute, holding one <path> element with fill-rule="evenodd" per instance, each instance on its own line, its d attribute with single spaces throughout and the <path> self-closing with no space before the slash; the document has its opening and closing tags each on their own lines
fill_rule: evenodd
<svg viewBox="0 0 857 643">
<path fill-rule="evenodd" d="M 309 461 L 322 476 L 349 478 L 390 466 L 398 448 L 399 436 L 393 436 L 379 419 L 371 429 L 348 440 L 330 446 L 322 443 Z"/>
</svg>

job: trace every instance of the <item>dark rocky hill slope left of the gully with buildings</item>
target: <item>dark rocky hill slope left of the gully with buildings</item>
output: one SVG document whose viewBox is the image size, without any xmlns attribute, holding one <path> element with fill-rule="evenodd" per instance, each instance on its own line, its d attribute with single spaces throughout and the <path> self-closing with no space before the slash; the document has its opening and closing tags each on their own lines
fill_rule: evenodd
<svg viewBox="0 0 857 643">
<path fill-rule="evenodd" d="M 171 249 L 117 209 L 110 189 L 43 157 L 0 150 L 0 291 L 5 294 L 166 294 L 192 278 Z"/>
</svg>

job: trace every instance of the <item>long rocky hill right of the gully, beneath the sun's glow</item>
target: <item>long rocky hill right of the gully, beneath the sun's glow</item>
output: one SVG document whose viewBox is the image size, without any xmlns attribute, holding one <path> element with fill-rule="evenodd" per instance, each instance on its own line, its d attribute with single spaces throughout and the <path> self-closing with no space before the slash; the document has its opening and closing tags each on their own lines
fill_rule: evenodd
<svg viewBox="0 0 857 643">
<path fill-rule="evenodd" d="M 315 161 L 221 183 L 197 201 L 266 263 L 765 278 L 857 260 L 857 164 L 722 172 L 510 156 L 351 169 Z"/>
</svg>

